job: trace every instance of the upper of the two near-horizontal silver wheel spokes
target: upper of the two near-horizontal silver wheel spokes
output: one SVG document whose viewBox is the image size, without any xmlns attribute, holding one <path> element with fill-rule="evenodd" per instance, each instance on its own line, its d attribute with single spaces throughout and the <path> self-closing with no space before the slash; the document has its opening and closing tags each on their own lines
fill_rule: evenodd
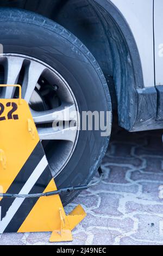
<svg viewBox="0 0 163 256">
<path fill-rule="evenodd" d="M 74 104 L 63 103 L 60 107 L 49 111 L 36 112 L 31 110 L 31 112 L 36 124 L 77 120 L 76 106 Z"/>
</svg>

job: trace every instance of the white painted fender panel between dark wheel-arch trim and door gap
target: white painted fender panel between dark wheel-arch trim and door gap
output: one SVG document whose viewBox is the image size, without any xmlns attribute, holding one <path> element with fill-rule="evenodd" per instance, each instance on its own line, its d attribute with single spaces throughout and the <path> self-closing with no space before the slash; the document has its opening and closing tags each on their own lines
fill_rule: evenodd
<svg viewBox="0 0 163 256">
<path fill-rule="evenodd" d="M 134 35 L 141 59 L 144 86 L 153 87 L 153 0 L 111 0 L 111 2 L 121 11 Z"/>
</svg>

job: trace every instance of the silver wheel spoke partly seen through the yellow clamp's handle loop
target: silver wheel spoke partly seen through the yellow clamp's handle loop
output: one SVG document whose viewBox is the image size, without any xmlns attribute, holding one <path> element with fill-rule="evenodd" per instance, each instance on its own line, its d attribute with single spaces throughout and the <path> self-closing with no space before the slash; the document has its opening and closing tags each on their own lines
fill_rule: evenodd
<svg viewBox="0 0 163 256">
<path fill-rule="evenodd" d="M 22 58 L 14 59 L 10 56 L 7 58 L 7 62 L 5 63 L 4 84 L 17 84 L 22 64 Z M 1 97 L 4 97 L 5 99 L 10 99 L 14 96 L 14 93 L 15 87 L 6 87 L 3 90 Z"/>
</svg>

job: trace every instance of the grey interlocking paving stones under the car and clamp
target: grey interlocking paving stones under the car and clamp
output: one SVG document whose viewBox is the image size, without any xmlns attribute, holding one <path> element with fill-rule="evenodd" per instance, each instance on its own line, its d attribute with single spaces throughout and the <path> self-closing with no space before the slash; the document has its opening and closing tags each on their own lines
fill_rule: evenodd
<svg viewBox="0 0 163 256">
<path fill-rule="evenodd" d="M 66 211 L 82 204 L 87 217 L 74 241 L 57 245 L 162 245 L 163 147 L 161 131 L 112 135 L 101 185 L 81 193 Z M 95 180 L 98 179 L 98 176 Z M 48 245 L 50 233 L 3 234 L 1 245 Z"/>
</svg>

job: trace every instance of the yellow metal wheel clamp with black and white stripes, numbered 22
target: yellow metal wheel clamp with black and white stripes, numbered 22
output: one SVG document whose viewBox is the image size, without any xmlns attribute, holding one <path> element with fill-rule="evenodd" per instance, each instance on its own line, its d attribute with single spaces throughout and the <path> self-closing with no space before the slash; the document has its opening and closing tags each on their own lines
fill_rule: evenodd
<svg viewBox="0 0 163 256">
<path fill-rule="evenodd" d="M 72 241 L 86 214 L 78 205 L 66 216 L 28 103 L 14 87 L 19 99 L 0 100 L 0 233 L 52 231 L 49 241 Z"/>
</svg>

